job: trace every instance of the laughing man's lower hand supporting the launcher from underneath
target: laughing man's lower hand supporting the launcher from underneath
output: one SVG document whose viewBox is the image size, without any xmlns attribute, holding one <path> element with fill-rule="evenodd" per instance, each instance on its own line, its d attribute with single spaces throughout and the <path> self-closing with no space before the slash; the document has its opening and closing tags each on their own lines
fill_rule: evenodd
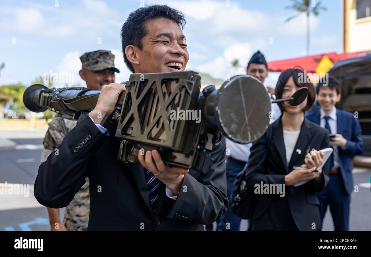
<svg viewBox="0 0 371 257">
<path fill-rule="evenodd" d="M 143 154 L 139 151 L 138 159 L 143 167 L 151 171 L 152 174 L 173 192 L 174 196 L 179 194 L 184 174 L 188 173 L 189 169 L 168 166 L 162 161 L 160 153 L 157 150 L 147 151 L 145 157 L 143 157 Z"/>
</svg>

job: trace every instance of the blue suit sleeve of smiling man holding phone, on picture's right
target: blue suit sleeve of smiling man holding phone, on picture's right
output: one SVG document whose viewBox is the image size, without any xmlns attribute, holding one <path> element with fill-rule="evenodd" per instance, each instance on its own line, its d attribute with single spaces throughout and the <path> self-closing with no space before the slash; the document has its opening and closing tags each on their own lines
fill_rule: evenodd
<svg viewBox="0 0 371 257">
<path fill-rule="evenodd" d="M 339 147 L 339 151 L 350 156 L 361 155 L 363 152 L 362 130 L 358 119 L 352 117 L 352 138 L 347 140 L 345 148 Z"/>
</svg>

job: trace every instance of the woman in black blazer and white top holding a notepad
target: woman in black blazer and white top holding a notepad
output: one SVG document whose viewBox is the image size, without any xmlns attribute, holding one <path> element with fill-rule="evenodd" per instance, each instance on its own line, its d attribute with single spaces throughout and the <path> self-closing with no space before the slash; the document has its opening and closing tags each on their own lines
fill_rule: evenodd
<svg viewBox="0 0 371 257">
<path fill-rule="evenodd" d="M 312 83 L 302 82 L 306 79 L 304 74 L 299 69 L 288 69 L 280 74 L 276 99 L 290 97 L 300 87 L 308 87 L 308 97 L 296 107 L 287 101 L 279 103 L 283 114 L 270 124 L 270 143 L 266 132 L 250 150 L 247 188 L 257 194 L 253 231 L 321 230 L 315 192 L 322 191 L 329 180 L 329 162 L 321 169 L 324 154 L 319 151 L 329 147 L 329 134 L 328 130 L 304 117 L 304 112 L 315 101 Z M 294 168 L 304 167 L 304 164 L 306 169 Z M 294 186 L 304 181 L 308 182 Z M 281 190 L 273 190 L 279 187 Z"/>
</svg>

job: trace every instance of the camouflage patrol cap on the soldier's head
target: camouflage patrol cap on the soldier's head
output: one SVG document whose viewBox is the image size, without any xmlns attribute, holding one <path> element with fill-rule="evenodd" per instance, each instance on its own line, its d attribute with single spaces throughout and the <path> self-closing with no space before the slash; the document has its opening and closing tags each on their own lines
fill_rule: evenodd
<svg viewBox="0 0 371 257">
<path fill-rule="evenodd" d="M 80 56 L 82 67 L 87 70 L 99 71 L 108 68 L 114 68 L 117 73 L 119 69 L 115 67 L 115 56 L 111 51 L 97 50 L 83 54 Z"/>
</svg>

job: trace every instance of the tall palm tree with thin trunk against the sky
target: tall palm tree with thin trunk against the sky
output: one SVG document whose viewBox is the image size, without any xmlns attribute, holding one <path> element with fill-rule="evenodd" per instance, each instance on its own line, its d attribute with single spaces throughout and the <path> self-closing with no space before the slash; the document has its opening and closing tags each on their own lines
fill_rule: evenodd
<svg viewBox="0 0 371 257">
<path fill-rule="evenodd" d="M 314 16 L 318 16 L 319 10 L 327 10 L 326 7 L 321 6 L 321 1 L 309 1 L 309 0 L 291 0 L 294 2 L 292 6 L 286 6 L 286 9 L 293 9 L 298 11 L 297 14 L 287 18 L 285 22 L 288 22 L 296 17 L 298 17 L 301 13 L 306 14 L 306 54 L 309 54 L 309 15 L 314 14 Z"/>
</svg>

